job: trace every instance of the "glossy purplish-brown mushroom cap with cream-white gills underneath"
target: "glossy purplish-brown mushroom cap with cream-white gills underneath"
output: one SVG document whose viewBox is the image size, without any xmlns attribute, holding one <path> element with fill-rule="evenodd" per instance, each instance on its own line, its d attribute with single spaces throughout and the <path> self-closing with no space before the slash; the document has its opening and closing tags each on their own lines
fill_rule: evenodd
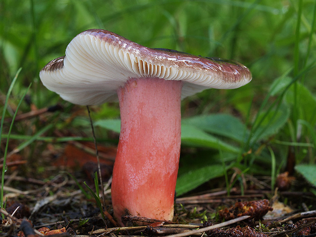
<svg viewBox="0 0 316 237">
<path fill-rule="evenodd" d="M 252 78 L 249 69 L 235 61 L 148 48 L 99 29 L 78 34 L 65 56 L 40 71 L 45 87 L 82 105 L 117 101 L 117 89 L 139 77 L 182 81 L 181 98 L 207 88 L 238 88 Z"/>
</svg>

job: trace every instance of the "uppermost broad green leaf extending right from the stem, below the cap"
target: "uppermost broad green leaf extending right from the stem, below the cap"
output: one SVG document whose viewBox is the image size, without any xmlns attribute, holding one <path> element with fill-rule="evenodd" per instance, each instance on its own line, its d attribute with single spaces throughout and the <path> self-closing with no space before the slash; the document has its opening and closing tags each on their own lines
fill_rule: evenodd
<svg viewBox="0 0 316 237">
<path fill-rule="evenodd" d="M 249 135 L 245 124 L 229 114 L 202 115 L 182 119 L 182 124 L 194 125 L 208 133 L 224 136 L 235 141 L 243 142 Z"/>
</svg>

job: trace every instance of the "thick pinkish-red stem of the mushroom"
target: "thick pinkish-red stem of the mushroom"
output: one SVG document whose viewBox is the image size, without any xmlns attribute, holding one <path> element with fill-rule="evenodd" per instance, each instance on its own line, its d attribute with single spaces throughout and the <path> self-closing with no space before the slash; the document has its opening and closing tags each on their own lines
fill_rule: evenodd
<svg viewBox="0 0 316 237">
<path fill-rule="evenodd" d="M 181 142 L 181 88 L 179 81 L 133 78 L 118 90 L 121 133 L 112 202 L 120 223 L 126 214 L 173 218 Z"/>
</svg>

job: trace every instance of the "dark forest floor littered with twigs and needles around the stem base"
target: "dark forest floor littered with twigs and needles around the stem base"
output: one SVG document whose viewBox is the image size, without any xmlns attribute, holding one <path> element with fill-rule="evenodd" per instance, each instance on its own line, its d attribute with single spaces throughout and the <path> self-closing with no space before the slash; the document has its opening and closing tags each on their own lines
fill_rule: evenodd
<svg viewBox="0 0 316 237">
<path fill-rule="evenodd" d="M 104 195 L 98 199 L 94 197 L 97 163 L 87 154 L 91 146 L 73 142 L 48 146 L 48 159 L 34 167 L 21 155 L 10 157 L 1 234 L 316 236 L 316 197 L 306 191 L 313 187 L 288 173 L 279 175 L 273 191 L 270 177 L 243 175 L 243 189 L 235 185 L 229 190 L 221 177 L 177 197 L 172 222 L 127 216 L 126 226 L 117 226 L 110 192 L 115 147 L 100 147 Z"/>
</svg>

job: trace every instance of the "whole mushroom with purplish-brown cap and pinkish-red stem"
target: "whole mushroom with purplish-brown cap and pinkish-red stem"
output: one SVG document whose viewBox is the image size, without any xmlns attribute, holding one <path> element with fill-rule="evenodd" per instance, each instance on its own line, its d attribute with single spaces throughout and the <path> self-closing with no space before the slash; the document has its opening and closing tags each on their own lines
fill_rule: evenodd
<svg viewBox="0 0 316 237">
<path fill-rule="evenodd" d="M 41 71 L 45 87 L 81 105 L 119 101 L 121 133 L 113 170 L 114 216 L 172 220 L 180 154 L 182 98 L 207 88 L 251 81 L 242 64 L 153 49 L 91 29 L 68 44 L 66 56 Z"/>
</svg>

